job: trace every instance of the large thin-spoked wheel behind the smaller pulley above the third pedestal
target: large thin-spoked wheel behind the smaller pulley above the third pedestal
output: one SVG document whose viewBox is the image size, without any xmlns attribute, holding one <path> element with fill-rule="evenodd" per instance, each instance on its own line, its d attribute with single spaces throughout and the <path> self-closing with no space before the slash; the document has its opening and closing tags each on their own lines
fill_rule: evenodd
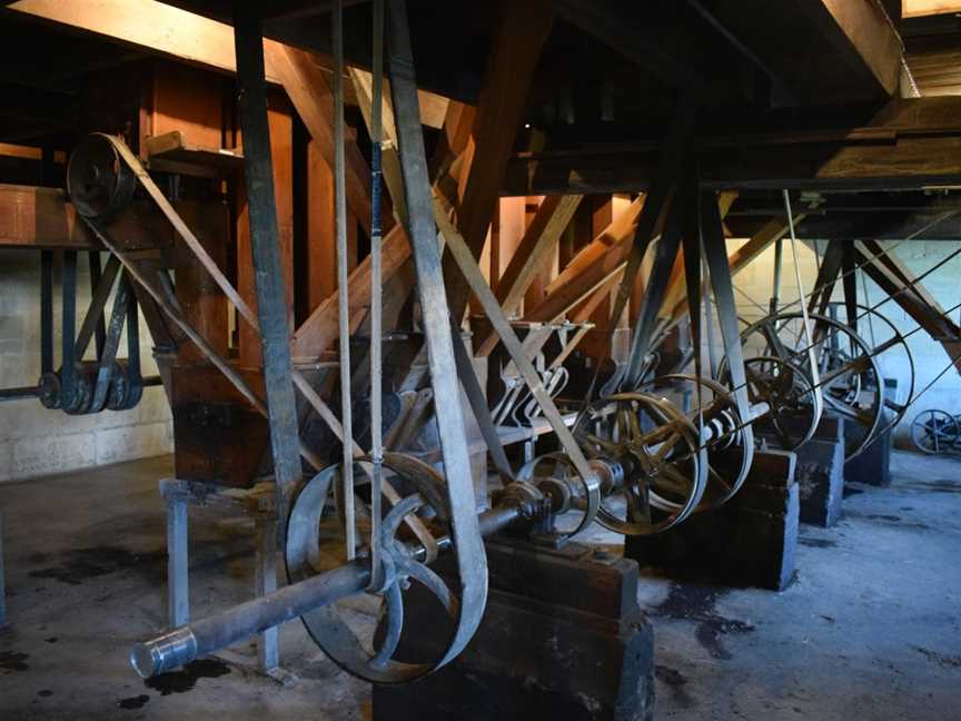
<svg viewBox="0 0 961 721">
<path fill-rule="evenodd" d="M 809 314 L 809 318 L 818 387 L 825 408 L 845 419 L 844 457 L 853 458 L 875 436 L 884 416 L 881 371 L 871 346 L 845 324 L 819 314 Z M 809 365 L 801 313 L 762 318 L 741 337 L 759 356 L 773 356 L 801 368 Z"/>
</svg>

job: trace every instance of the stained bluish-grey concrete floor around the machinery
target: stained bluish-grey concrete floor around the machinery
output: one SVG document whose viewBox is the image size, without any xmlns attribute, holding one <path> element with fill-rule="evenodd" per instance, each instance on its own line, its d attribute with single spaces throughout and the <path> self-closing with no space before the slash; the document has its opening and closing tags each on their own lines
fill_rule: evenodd
<svg viewBox="0 0 961 721">
<path fill-rule="evenodd" d="M 895 453 L 892 466 L 891 488 L 849 488 L 838 527 L 802 526 L 784 593 L 644 582 L 657 719 L 961 718 L 961 461 Z M 0 486 L 0 719 L 368 719 L 369 689 L 297 622 L 281 636 L 293 689 L 216 659 L 135 675 L 131 644 L 165 620 L 169 473 L 161 457 Z M 246 599 L 250 527 L 200 511 L 191 531 L 195 613 Z"/>
</svg>

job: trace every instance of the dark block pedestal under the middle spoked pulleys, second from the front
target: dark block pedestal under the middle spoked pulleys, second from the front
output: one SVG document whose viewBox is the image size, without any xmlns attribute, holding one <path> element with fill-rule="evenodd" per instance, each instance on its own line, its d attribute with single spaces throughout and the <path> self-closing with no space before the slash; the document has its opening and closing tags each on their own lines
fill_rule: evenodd
<svg viewBox="0 0 961 721">
<path fill-rule="evenodd" d="M 795 463 L 791 452 L 755 452 L 744 486 L 726 505 L 655 536 L 628 536 L 624 555 L 676 579 L 783 591 L 797 549 Z"/>
</svg>

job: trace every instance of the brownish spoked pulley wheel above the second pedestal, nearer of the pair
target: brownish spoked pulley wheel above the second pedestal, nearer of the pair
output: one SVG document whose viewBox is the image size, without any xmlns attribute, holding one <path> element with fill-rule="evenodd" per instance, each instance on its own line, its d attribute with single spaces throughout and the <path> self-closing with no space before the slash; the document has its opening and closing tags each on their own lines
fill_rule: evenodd
<svg viewBox="0 0 961 721">
<path fill-rule="evenodd" d="M 661 533 L 686 518 L 707 485 L 706 447 L 697 428 L 665 398 L 618 393 L 590 405 L 574 428 L 588 457 L 616 464 L 620 487 L 597 522 L 624 535 Z"/>
</svg>

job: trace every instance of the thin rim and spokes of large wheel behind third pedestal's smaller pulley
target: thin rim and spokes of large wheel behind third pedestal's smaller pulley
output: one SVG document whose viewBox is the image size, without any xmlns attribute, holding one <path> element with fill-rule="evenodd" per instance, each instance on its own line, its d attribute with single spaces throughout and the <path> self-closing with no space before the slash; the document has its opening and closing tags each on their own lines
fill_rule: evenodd
<svg viewBox="0 0 961 721">
<path fill-rule="evenodd" d="M 853 358 L 846 363 L 844 363 L 840 368 L 829 368 L 825 372 L 821 369 L 822 363 L 819 358 L 819 375 L 820 377 L 820 391 L 821 396 L 824 399 L 825 406 L 830 406 L 835 413 L 843 416 L 845 421 L 856 423 L 858 425 L 854 427 L 859 427 L 862 431 L 862 435 L 856 435 L 853 437 L 848 437 L 845 434 L 844 441 L 844 460 L 850 461 L 851 458 L 856 457 L 876 437 L 879 426 L 881 425 L 881 421 L 883 419 L 883 382 L 881 378 L 881 369 L 878 366 L 878 362 L 873 356 L 873 350 L 871 346 L 856 333 L 854 333 L 851 328 L 849 328 L 845 324 L 834 320 L 824 315 L 820 315 L 816 313 L 808 314 L 808 317 L 813 322 L 814 327 L 812 328 L 812 336 L 816 336 L 813 340 L 814 343 L 814 352 L 815 357 L 819 355 L 823 355 L 823 349 L 825 345 L 825 340 L 828 338 L 826 335 L 822 338 L 823 330 L 825 328 L 835 333 L 840 333 L 850 344 L 852 349 L 856 349 L 856 355 L 853 355 Z M 773 349 L 773 353 L 766 353 L 764 355 L 775 356 L 791 363 L 795 366 L 805 367 L 806 366 L 806 352 L 797 352 L 796 348 L 792 349 L 793 352 L 789 352 L 785 347 L 783 340 L 777 336 L 777 324 L 779 322 L 801 322 L 803 325 L 804 315 L 800 312 L 797 313 L 781 313 L 773 316 L 766 316 L 755 322 L 753 325 L 749 326 L 742 334 L 742 342 L 746 340 L 750 336 L 754 334 L 760 334 L 762 338 L 766 342 L 766 348 Z M 785 327 L 784 325 L 781 326 Z M 803 327 L 802 333 L 796 334 L 795 340 L 802 339 L 802 350 L 806 349 L 806 340 L 803 340 Z M 852 355 L 852 354 L 849 354 Z M 849 368 L 844 372 L 844 368 Z M 846 376 L 851 375 L 856 371 L 856 377 L 859 383 L 859 394 L 864 393 L 863 381 L 861 376 L 871 374 L 874 376 L 874 388 L 873 391 L 866 391 L 873 396 L 873 401 L 870 405 L 869 411 L 862 411 L 860 407 L 860 401 L 858 403 L 859 407 L 853 407 L 851 404 L 845 404 L 843 399 L 840 397 L 841 394 L 846 394 L 848 392 L 844 388 L 839 388 L 836 386 L 832 387 L 832 383 L 836 379 L 844 379 Z M 832 393 L 833 391 L 833 393 Z"/>
</svg>

